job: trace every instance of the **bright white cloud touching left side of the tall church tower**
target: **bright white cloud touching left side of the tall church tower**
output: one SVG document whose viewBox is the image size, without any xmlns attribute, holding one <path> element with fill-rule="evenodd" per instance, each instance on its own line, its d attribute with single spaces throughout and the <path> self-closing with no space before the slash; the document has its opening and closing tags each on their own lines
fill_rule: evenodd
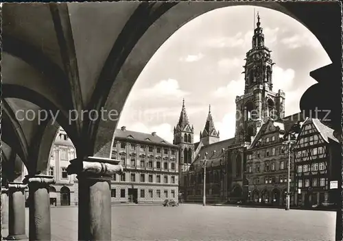
<svg viewBox="0 0 343 241">
<path fill-rule="evenodd" d="M 235 99 L 244 93 L 244 79 L 231 80 L 227 86 L 217 88 L 212 95 L 217 98 Z"/>
</svg>

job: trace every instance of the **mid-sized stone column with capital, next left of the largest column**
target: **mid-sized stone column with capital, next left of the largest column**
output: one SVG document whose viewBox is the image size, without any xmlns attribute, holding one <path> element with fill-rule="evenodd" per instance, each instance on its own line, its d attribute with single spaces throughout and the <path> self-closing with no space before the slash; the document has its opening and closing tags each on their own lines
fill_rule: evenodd
<svg viewBox="0 0 343 241">
<path fill-rule="evenodd" d="M 24 182 L 29 184 L 29 240 L 51 240 L 49 186 L 54 177 L 26 176 Z"/>
</svg>

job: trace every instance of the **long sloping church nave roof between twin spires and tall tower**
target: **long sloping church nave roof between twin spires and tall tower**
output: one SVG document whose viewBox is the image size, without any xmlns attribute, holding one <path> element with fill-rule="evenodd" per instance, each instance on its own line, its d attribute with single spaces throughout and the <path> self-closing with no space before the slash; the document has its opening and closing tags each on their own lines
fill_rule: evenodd
<svg viewBox="0 0 343 241">
<path fill-rule="evenodd" d="M 196 160 L 192 164 L 193 167 L 196 169 L 201 167 L 201 162 L 204 160 L 205 153 L 208 153 L 206 156 L 206 159 L 208 160 L 206 166 L 220 166 L 220 161 L 222 160 L 224 162 L 225 155 L 225 151 L 223 152 L 222 149 L 226 150 L 233 142 L 235 142 L 235 138 L 222 140 L 221 142 L 215 142 L 202 147 L 199 152 L 200 157 L 196 157 Z M 215 153 L 213 151 L 215 151 Z"/>
</svg>

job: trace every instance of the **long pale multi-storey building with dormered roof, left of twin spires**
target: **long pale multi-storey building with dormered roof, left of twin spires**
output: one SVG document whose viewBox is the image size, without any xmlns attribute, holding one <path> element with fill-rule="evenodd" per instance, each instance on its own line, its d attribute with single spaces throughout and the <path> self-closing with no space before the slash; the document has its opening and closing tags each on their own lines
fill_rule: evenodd
<svg viewBox="0 0 343 241">
<path fill-rule="evenodd" d="M 162 203 L 178 199 L 179 147 L 156 135 L 115 130 L 113 159 L 121 160 L 123 173 L 113 175 L 112 203 Z"/>
</svg>

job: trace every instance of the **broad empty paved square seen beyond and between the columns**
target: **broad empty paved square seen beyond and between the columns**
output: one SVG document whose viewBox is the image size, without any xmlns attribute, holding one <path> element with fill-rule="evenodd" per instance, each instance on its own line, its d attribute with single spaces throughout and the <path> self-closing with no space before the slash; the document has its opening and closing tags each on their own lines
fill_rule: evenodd
<svg viewBox="0 0 343 241">
<path fill-rule="evenodd" d="M 78 240 L 77 222 L 78 207 L 52 207 L 52 240 Z M 6 234 L 4 231 L 3 235 Z M 195 204 L 112 207 L 112 240 L 314 241 L 334 238 L 335 212 Z"/>
</svg>

